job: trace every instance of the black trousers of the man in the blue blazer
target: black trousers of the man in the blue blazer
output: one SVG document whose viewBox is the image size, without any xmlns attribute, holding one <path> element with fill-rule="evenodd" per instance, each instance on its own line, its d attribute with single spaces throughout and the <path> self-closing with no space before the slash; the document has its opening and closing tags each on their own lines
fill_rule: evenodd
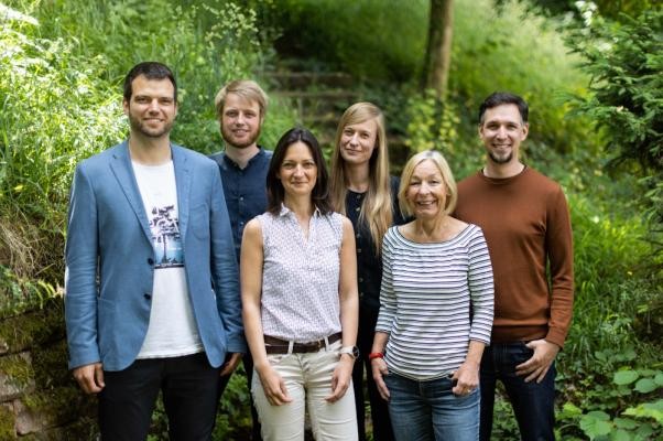
<svg viewBox="0 0 663 441">
<path fill-rule="evenodd" d="M 172 441 L 208 441 L 219 401 L 219 368 L 205 353 L 173 358 L 137 359 L 119 372 L 104 372 L 99 394 L 102 441 L 148 438 L 159 391 Z"/>
</svg>

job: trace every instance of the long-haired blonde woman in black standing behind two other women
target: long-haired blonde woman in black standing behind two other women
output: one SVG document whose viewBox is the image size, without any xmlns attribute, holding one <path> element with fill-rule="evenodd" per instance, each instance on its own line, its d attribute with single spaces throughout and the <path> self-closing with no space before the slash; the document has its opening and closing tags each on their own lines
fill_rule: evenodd
<svg viewBox="0 0 663 441">
<path fill-rule="evenodd" d="M 380 398 L 371 375 L 370 349 L 378 312 L 382 279 L 381 246 L 387 229 L 403 219 L 398 209 L 399 180 L 389 174 L 384 117 L 377 106 L 357 103 L 341 116 L 332 157 L 332 202 L 334 211 L 345 214 L 355 227 L 359 286 L 360 361 L 355 363 L 352 383 L 359 439 L 366 440 L 363 373 L 376 441 L 393 440 L 387 401 Z"/>
</svg>

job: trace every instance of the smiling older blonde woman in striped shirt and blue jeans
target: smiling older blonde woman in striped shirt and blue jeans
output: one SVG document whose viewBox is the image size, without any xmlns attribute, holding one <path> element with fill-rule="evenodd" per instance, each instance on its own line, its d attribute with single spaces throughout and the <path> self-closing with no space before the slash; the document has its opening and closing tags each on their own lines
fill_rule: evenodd
<svg viewBox="0 0 663 441">
<path fill-rule="evenodd" d="M 481 229 L 449 216 L 456 197 L 444 157 L 415 154 L 399 189 L 401 211 L 414 220 L 390 228 L 382 245 L 380 314 L 369 357 L 399 441 L 479 437 L 492 267 Z"/>
</svg>

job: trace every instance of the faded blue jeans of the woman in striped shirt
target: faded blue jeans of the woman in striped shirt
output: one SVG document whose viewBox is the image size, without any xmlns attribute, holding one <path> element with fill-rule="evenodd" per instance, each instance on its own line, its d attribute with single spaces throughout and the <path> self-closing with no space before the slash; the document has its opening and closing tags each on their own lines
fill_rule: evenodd
<svg viewBox="0 0 663 441">
<path fill-rule="evenodd" d="M 479 439 L 479 391 L 458 397 L 449 377 L 416 381 L 390 373 L 389 413 L 398 441 L 476 441 Z"/>
</svg>

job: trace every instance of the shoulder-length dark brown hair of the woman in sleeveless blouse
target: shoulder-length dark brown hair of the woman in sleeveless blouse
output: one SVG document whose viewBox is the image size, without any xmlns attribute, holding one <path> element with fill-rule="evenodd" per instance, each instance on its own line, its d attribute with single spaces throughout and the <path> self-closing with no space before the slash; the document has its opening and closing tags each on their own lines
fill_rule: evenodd
<svg viewBox="0 0 663 441">
<path fill-rule="evenodd" d="M 313 192 L 311 193 L 311 202 L 320 211 L 322 214 L 332 212 L 332 198 L 329 196 L 328 187 L 328 174 L 327 166 L 325 165 L 325 159 L 323 158 L 323 150 L 320 149 L 315 136 L 304 129 L 295 127 L 290 129 L 279 140 L 274 154 L 270 161 L 270 168 L 267 172 L 267 195 L 268 195 L 268 212 L 276 215 L 281 212 L 281 205 L 285 197 L 285 190 L 279 179 L 279 170 L 287 153 L 287 148 L 296 142 L 303 142 L 308 146 L 313 161 L 317 166 L 317 179 Z"/>
</svg>

